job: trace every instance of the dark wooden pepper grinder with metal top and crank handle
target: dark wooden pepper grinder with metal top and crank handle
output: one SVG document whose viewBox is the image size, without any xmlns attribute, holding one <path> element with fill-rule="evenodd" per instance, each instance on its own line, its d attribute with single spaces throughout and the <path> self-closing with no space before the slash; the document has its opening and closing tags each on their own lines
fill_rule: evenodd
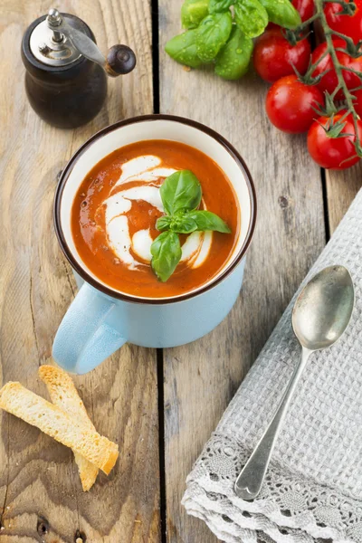
<svg viewBox="0 0 362 543">
<path fill-rule="evenodd" d="M 107 96 L 107 75 L 118 77 L 136 66 L 135 53 L 127 45 L 113 45 L 105 58 L 90 27 L 56 9 L 27 28 L 22 59 L 33 110 L 62 129 L 93 119 Z"/>
</svg>

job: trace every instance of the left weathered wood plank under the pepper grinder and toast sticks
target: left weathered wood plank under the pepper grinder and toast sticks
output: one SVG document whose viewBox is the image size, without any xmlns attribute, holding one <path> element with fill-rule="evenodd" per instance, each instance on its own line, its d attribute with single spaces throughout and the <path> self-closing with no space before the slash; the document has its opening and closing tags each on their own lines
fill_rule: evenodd
<svg viewBox="0 0 362 543">
<path fill-rule="evenodd" d="M 138 68 L 110 81 L 109 100 L 84 128 L 47 126 L 24 93 L 20 43 L 27 24 L 48 2 L 1 0 L 0 362 L 1 382 L 19 380 L 46 395 L 39 364 L 51 358 L 52 338 L 75 283 L 52 228 L 55 178 L 96 130 L 152 111 L 151 24 L 148 0 L 69 0 L 106 51 L 129 43 Z M 90 416 L 120 445 L 110 477 L 85 494 L 71 452 L 8 414 L 1 414 L 0 514 L 4 543 L 122 541 L 156 543 L 159 535 L 157 361 L 152 350 L 126 346 L 102 367 L 76 379 Z"/>
</svg>

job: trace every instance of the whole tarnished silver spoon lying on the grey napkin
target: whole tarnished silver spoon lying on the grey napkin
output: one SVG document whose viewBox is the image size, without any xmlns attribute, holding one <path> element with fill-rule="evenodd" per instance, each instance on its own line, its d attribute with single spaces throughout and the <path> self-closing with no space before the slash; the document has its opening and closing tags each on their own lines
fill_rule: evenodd
<svg viewBox="0 0 362 543">
<path fill-rule="evenodd" d="M 271 423 L 235 482 L 239 498 L 253 500 L 261 491 L 281 424 L 307 360 L 311 353 L 330 347 L 342 336 L 354 304 L 352 278 L 344 266 L 330 266 L 319 271 L 300 292 L 291 319 L 302 348 L 300 363 L 294 369 Z"/>
</svg>

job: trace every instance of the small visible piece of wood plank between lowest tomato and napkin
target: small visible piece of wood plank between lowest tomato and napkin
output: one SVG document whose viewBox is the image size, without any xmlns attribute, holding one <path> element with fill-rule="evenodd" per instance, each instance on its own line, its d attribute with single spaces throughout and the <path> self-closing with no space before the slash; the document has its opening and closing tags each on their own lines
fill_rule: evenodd
<svg viewBox="0 0 362 543">
<path fill-rule="evenodd" d="M 357 164 L 348 170 L 326 171 L 329 231 L 333 233 L 353 198 L 362 186 L 362 167 Z"/>
</svg>

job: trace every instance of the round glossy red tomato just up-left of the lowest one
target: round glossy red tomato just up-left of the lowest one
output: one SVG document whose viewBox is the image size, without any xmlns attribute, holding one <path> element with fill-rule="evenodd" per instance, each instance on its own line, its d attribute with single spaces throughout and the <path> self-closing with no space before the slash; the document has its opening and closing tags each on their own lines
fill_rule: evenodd
<svg viewBox="0 0 362 543">
<path fill-rule="evenodd" d="M 323 103 L 323 95 L 316 86 L 305 85 L 296 75 L 276 81 L 266 97 L 266 112 L 277 129 L 291 134 L 306 132 L 318 117 L 312 106 Z"/>
</svg>

